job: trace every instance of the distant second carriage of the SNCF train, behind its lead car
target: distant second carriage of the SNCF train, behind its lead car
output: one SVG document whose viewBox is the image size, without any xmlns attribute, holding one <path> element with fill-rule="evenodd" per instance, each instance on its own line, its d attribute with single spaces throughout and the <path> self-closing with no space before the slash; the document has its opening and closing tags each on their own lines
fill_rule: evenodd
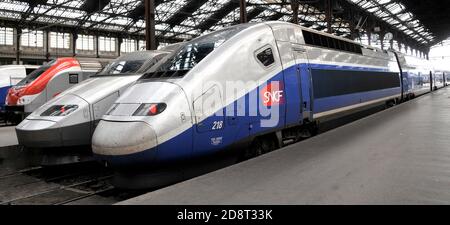
<svg viewBox="0 0 450 225">
<path fill-rule="evenodd" d="M 431 92 L 435 83 L 433 68 L 428 60 L 395 52 L 402 69 L 405 99 L 412 99 Z"/>
</svg>

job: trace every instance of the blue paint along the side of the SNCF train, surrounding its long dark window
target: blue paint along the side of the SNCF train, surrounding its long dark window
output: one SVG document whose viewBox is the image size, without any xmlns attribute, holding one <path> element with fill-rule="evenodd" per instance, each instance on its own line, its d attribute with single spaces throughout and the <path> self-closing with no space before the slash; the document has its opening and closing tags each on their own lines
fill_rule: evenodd
<svg viewBox="0 0 450 225">
<path fill-rule="evenodd" d="M 318 65 L 312 64 L 309 65 L 312 68 L 321 68 L 321 69 L 342 69 L 342 70 L 359 70 L 359 71 L 386 71 L 384 69 L 374 69 L 374 68 L 359 68 L 359 67 L 343 67 L 343 66 L 332 66 L 332 65 Z M 305 69 L 307 64 L 301 64 L 300 67 Z M 355 69 L 356 68 L 356 69 Z M 303 70 L 302 70 L 303 71 Z M 295 73 L 296 66 L 292 66 L 290 68 L 285 69 L 284 71 L 276 74 L 273 78 L 271 78 L 267 83 L 271 81 L 289 81 L 286 79 L 287 73 Z M 283 74 L 285 76 L 283 76 Z M 266 83 L 266 84 L 267 84 Z M 288 84 L 286 84 L 288 85 Z M 295 85 L 298 85 L 298 81 Z M 235 101 L 231 105 L 234 105 L 235 112 L 237 111 L 237 105 L 242 102 L 249 102 L 250 96 L 258 96 L 260 88 L 263 88 L 265 85 L 258 87 L 257 89 L 251 91 L 241 99 Z M 305 84 L 302 84 L 302 88 L 305 88 Z M 298 89 L 298 87 L 297 87 Z M 326 99 L 315 100 L 315 107 L 317 108 L 317 112 L 328 111 L 340 107 L 345 107 L 349 105 L 353 105 L 355 103 L 361 103 L 360 101 L 372 101 L 377 98 L 385 98 L 388 96 L 392 96 L 400 93 L 399 88 L 380 90 L 380 91 L 372 91 L 365 93 L 357 93 L 345 96 L 336 96 L 330 97 Z M 200 133 L 197 132 L 197 125 L 187 129 L 183 133 L 177 135 L 176 137 L 159 144 L 157 147 L 153 149 L 149 149 L 143 151 L 141 153 L 125 155 L 125 156 L 102 156 L 97 155 L 96 157 L 100 160 L 107 160 L 115 166 L 126 165 L 126 164 L 139 164 L 139 163 L 164 163 L 166 161 L 186 159 L 190 157 L 200 156 L 207 153 L 217 152 L 221 149 L 229 147 L 233 143 L 244 140 L 250 136 L 257 135 L 263 132 L 267 132 L 273 129 L 281 129 L 284 128 L 285 125 L 295 125 L 300 124 L 300 115 L 292 117 L 292 112 L 298 112 L 300 114 L 299 109 L 292 109 L 292 107 L 300 107 L 300 100 L 296 99 L 299 96 L 295 96 L 296 98 L 290 98 L 292 95 L 286 96 L 286 104 L 284 106 L 288 106 L 289 115 L 286 116 L 286 108 L 280 108 L 281 118 L 278 124 L 275 127 L 266 128 L 261 127 L 260 121 L 267 119 L 268 117 L 262 116 L 248 116 L 249 110 L 246 108 L 246 115 L 243 117 L 221 117 L 217 115 L 213 115 L 203 121 L 203 124 L 210 124 L 213 121 L 225 121 L 225 126 L 222 130 L 214 130 L 210 132 Z M 245 99 L 245 101 L 243 101 Z M 357 101 L 355 100 L 357 99 Z M 261 99 L 258 99 L 261 102 Z M 230 106 L 222 109 L 226 112 L 226 109 Z M 291 107 L 291 108 L 289 108 Z M 226 115 L 226 114 L 225 114 Z M 259 114 L 258 114 L 259 115 Z M 213 145 L 212 142 L 220 142 L 220 145 Z M 153 159 L 156 159 L 153 160 Z"/>
</svg>

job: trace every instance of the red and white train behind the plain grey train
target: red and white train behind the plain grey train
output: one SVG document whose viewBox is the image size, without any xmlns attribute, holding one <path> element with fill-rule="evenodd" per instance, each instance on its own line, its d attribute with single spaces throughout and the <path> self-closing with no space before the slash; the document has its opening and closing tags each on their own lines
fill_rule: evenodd
<svg viewBox="0 0 450 225">
<path fill-rule="evenodd" d="M 58 58 L 33 71 L 8 91 L 5 110 L 19 121 L 48 100 L 98 73 L 109 60 Z"/>
</svg>

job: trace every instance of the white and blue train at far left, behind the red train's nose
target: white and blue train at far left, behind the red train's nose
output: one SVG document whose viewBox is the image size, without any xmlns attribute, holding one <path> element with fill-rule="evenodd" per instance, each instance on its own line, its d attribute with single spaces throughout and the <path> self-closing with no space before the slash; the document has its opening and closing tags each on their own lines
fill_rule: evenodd
<svg viewBox="0 0 450 225">
<path fill-rule="evenodd" d="M 9 89 L 23 80 L 39 66 L 34 65 L 6 65 L 0 66 L 0 116 L 4 115 L 6 95 Z"/>
</svg>

